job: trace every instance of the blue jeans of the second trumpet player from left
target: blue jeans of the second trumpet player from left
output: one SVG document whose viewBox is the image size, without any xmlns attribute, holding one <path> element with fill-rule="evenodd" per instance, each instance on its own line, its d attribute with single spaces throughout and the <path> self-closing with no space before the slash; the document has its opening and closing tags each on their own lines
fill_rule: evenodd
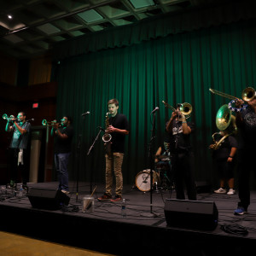
<svg viewBox="0 0 256 256">
<path fill-rule="evenodd" d="M 68 191 L 67 164 L 70 153 L 55 154 L 55 167 L 59 181 L 59 189 Z"/>
</svg>

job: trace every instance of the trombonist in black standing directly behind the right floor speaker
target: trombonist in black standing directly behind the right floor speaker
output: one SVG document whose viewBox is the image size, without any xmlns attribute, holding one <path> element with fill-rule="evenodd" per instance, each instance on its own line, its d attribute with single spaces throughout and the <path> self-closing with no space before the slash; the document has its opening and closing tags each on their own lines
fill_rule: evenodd
<svg viewBox="0 0 256 256">
<path fill-rule="evenodd" d="M 196 200 L 195 177 L 193 170 L 193 153 L 190 144 L 190 134 L 194 124 L 187 122 L 179 106 L 172 112 L 171 119 L 166 124 L 169 133 L 172 172 L 177 192 L 177 199 L 184 200 L 183 182 L 187 188 L 189 200 Z"/>
</svg>

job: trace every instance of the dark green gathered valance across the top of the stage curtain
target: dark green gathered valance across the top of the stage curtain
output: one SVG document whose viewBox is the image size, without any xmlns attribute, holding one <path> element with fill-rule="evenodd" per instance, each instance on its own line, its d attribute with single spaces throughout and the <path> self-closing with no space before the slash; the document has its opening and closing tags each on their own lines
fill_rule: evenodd
<svg viewBox="0 0 256 256">
<path fill-rule="evenodd" d="M 150 39 L 170 34 L 191 32 L 201 28 L 229 24 L 238 20 L 256 17 L 256 2 L 224 1 L 221 5 L 190 9 L 182 13 L 168 13 L 141 20 L 128 26 L 113 27 L 102 32 L 86 34 L 55 45 L 53 56 L 56 61 L 88 52 L 115 47 L 140 44 Z"/>
</svg>

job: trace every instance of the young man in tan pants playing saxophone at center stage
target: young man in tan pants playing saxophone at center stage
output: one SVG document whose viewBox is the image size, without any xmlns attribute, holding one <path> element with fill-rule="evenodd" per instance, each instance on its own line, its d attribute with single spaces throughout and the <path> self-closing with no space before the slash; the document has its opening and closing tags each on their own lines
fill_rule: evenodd
<svg viewBox="0 0 256 256">
<path fill-rule="evenodd" d="M 123 191 L 122 164 L 125 154 L 125 135 L 129 134 L 129 123 L 125 114 L 118 113 L 119 102 L 116 99 L 108 101 L 109 118 L 108 133 L 111 134 L 111 153 L 105 155 L 106 159 L 106 192 L 99 201 L 120 201 Z M 113 174 L 116 181 L 115 197 L 112 199 Z"/>
</svg>

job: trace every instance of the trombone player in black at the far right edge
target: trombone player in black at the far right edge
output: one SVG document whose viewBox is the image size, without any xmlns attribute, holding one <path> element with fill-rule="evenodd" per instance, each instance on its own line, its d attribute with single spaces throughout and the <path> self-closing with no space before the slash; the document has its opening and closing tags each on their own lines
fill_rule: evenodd
<svg viewBox="0 0 256 256">
<path fill-rule="evenodd" d="M 236 101 L 236 107 L 241 108 L 244 102 Z M 238 133 L 238 189 L 239 199 L 236 215 L 247 213 L 250 205 L 250 172 L 255 171 L 256 155 L 256 96 L 247 102 L 248 108 L 241 108 L 236 112 Z"/>
</svg>

